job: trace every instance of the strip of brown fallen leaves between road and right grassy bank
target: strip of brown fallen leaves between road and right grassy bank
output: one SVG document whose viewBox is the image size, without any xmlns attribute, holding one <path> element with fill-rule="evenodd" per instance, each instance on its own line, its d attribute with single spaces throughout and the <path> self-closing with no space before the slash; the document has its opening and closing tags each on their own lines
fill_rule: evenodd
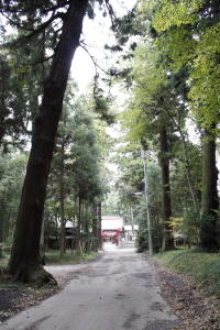
<svg viewBox="0 0 220 330">
<path fill-rule="evenodd" d="M 152 262 L 156 271 L 162 296 L 182 323 L 174 330 L 219 330 L 220 297 L 206 297 L 191 278 L 163 268 Z"/>
</svg>

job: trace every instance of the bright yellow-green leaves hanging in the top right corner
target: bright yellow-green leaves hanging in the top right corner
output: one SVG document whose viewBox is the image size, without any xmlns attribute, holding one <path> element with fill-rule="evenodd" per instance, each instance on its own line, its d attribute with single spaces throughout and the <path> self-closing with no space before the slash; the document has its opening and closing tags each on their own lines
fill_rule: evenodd
<svg viewBox="0 0 220 330">
<path fill-rule="evenodd" d="M 165 66 L 187 67 L 191 111 L 202 127 L 219 122 L 219 22 L 216 1 L 160 1 L 153 26 L 163 32 L 158 48 L 167 56 Z"/>
</svg>

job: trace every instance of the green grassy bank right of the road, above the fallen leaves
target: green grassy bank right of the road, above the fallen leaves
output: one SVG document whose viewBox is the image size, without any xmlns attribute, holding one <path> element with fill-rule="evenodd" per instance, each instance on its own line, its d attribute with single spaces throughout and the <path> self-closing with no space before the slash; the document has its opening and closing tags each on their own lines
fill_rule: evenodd
<svg viewBox="0 0 220 330">
<path fill-rule="evenodd" d="M 209 295 L 220 296 L 220 254 L 175 250 L 155 258 L 175 273 L 191 276 Z"/>
</svg>

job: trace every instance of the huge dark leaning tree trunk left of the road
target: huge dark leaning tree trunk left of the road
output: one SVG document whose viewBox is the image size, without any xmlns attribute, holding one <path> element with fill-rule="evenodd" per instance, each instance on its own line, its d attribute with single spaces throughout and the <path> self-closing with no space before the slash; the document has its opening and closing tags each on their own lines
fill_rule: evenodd
<svg viewBox="0 0 220 330">
<path fill-rule="evenodd" d="M 55 51 L 43 101 L 34 122 L 32 148 L 16 218 L 9 272 L 23 282 L 50 282 L 41 266 L 40 237 L 47 178 L 74 53 L 79 44 L 88 0 L 70 0 Z"/>
</svg>

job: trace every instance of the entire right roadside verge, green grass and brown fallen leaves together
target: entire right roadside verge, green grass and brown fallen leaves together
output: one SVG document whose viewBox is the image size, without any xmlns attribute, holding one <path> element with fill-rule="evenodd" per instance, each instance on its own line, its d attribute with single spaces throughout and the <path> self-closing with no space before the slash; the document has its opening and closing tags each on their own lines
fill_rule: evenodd
<svg viewBox="0 0 220 330">
<path fill-rule="evenodd" d="M 174 250 L 152 263 L 162 296 L 179 318 L 178 330 L 220 329 L 220 260 L 218 253 Z"/>
</svg>

